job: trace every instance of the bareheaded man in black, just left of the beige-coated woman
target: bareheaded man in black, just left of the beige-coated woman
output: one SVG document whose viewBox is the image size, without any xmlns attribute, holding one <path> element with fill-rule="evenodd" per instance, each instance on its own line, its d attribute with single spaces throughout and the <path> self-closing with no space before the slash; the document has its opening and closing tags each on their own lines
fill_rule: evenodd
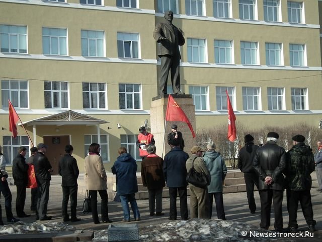
<svg viewBox="0 0 322 242">
<path fill-rule="evenodd" d="M 77 207 L 77 178 L 79 174 L 77 161 L 71 156 L 73 147 L 71 145 L 65 146 L 65 154 L 59 161 L 58 173 L 61 175 L 61 187 L 62 187 L 62 215 L 63 221 L 69 221 L 69 215 L 67 212 L 67 205 L 70 196 L 70 220 L 71 222 L 77 222 L 81 219 L 76 217 Z"/>
</svg>

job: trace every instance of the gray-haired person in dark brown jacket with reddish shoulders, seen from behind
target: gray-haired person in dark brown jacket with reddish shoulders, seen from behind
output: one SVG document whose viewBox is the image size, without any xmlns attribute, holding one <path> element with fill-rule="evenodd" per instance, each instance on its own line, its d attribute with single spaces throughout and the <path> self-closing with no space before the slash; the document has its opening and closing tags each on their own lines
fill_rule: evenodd
<svg viewBox="0 0 322 242">
<path fill-rule="evenodd" d="M 149 193 L 149 211 L 150 216 L 162 216 L 162 190 L 166 186 L 163 173 L 164 160 L 155 154 L 155 145 L 149 145 L 146 148 L 148 155 L 142 160 L 141 178 L 143 187 L 147 187 Z M 155 207 L 156 201 L 156 207 Z"/>
</svg>

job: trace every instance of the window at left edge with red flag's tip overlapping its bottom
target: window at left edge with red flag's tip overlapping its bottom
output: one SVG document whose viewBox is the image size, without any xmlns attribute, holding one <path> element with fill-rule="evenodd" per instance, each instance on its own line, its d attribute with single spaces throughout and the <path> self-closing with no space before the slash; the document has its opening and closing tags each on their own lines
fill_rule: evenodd
<svg viewBox="0 0 322 242">
<path fill-rule="evenodd" d="M 2 108 L 9 108 L 8 99 L 18 108 L 28 108 L 28 81 L 1 81 Z"/>
</svg>

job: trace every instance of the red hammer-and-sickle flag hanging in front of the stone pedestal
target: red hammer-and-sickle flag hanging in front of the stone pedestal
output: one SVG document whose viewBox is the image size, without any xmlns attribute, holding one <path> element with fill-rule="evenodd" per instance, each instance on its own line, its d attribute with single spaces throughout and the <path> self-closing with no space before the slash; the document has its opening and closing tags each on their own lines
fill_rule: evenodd
<svg viewBox="0 0 322 242">
<path fill-rule="evenodd" d="M 181 121 L 181 122 L 186 122 L 192 137 L 195 138 L 196 134 L 193 131 L 192 125 L 186 116 L 186 113 L 182 110 L 182 108 L 178 105 L 178 103 L 175 101 L 175 99 L 169 95 L 168 99 L 168 106 L 167 106 L 167 112 L 166 112 L 166 120 L 167 121 Z"/>
</svg>

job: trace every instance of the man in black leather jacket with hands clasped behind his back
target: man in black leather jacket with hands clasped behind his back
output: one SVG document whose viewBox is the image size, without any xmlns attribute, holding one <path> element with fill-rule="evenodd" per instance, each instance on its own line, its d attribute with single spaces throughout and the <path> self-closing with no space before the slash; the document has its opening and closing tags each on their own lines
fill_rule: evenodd
<svg viewBox="0 0 322 242">
<path fill-rule="evenodd" d="M 259 193 L 261 197 L 261 228 L 268 229 L 271 224 L 271 206 L 274 206 L 274 228 L 283 229 L 282 202 L 285 179 L 285 149 L 278 146 L 279 135 L 275 132 L 267 134 L 267 142 L 256 150 L 253 166 L 259 175 Z"/>
</svg>

